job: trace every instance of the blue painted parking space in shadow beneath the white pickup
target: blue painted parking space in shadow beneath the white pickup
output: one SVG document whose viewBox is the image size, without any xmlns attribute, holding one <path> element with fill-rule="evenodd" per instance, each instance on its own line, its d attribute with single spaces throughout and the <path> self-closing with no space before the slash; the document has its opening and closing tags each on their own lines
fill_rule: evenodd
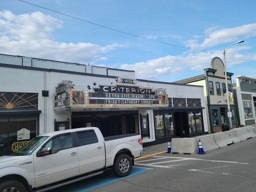
<svg viewBox="0 0 256 192">
<path fill-rule="evenodd" d="M 146 170 L 150 170 L 148 168 L 140 168 L 140 167 L 132 167 L 132 170 L 128 176 L 132 176 L 134 174 L 138 174 L 141 172 L 144 172 Z M 126 177 L 128 177 L 126 176 Z M 125 177 L 118 177 L 113 173 L 113 170 L 111 168 L 108 168 L 104 171 L 103 174 L 93 176 L 78 182 L 74 182 L 62 187 L 58 187 L 52 190 L 49 190 L 50 192 L 83 192 L 92 188 L 96 188 L 98 186 L 102 186 L 104 184 L 108 184 L 111 182 L 114 182 L 116 180 L 122 179 Z"/>
</svg>

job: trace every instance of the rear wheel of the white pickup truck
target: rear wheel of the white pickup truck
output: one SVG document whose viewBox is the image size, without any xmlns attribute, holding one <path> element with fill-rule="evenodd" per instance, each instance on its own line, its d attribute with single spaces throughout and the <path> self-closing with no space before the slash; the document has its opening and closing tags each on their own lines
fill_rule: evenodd
<svg viewBox="0 0 256 192">
<path fill-rule="evenodd" d="M 132 161 L 129 155 L 127 154 L 117 154 L 114 159 L 113 171 L 119 176 L 127 176 L 129 175 L 132 169 Z"/>
</svg>

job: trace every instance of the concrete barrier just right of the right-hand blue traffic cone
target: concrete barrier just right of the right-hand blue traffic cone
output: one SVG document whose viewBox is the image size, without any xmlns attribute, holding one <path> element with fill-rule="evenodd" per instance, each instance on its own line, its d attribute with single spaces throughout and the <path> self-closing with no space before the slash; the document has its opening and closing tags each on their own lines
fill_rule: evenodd
<svg viewBox="0 0 256 192">
<path fill-rule="evenodd" d="M 206 135 L 203 135 L 203 136 L 197 136 L 196 137 L 197 146 L 199 146 L 199 139 L 201 141 L 202 148 L 205 152 L 210 151 L 210 150 L 214 150 L 216 148 L 219 148 L 218 145 L 215 142 L 213 134 L 206 134 Z"/>
</svg>

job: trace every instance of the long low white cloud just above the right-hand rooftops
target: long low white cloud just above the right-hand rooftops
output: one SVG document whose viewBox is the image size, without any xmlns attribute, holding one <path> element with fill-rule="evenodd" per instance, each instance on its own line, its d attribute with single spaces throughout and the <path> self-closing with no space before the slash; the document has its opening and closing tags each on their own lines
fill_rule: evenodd
<svg viewBox="0 0 256 192">
<path fill-rule="evenodd" d="M 229 53 L 226 54 L 226 67 L 227 71 L 232 72 L 233 66 L 241 65 L 246 59 L 253 60 L 256 57 L 244 57 L 244 55 L 238 54 L 238 50 L 248 49 L 248 46 L 230 48 Z M 160 77 L 167 77 L 169 75 L 191 73 L 192 70 L 201 71 L 204 73 L 204 68 L 210 68 L 210 62 L 213 57 L 219 57 L 223 61 L 222 50 L 212 50 L 211 52 L 198 52 L 189 53 L 187 55 L 176 55 L 176 56 L 164 56 L 145 62 L 136 62 L 135 64 L 122 64 L 121 69 L 135 70 L 137 78 L 157 80 Z M 182 79 L 182 77 L 181 77 Z"/>
</svg>

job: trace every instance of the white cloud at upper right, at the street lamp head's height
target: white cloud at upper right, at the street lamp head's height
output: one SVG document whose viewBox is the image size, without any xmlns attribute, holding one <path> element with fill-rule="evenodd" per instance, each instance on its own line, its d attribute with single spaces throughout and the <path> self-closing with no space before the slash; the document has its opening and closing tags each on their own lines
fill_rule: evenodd
<svg viewBox="0 0 256 192">
<path fill-rule="evenodd" d="M 202 43 L 198 43 L 198 39 L 196 38 L 185 41 L 185 45 L 193 49 L 204 49 L 220 43 L 232 41 L 236 42 L 241 36 L 245 36 L 246 38 L 256 36 L 256 23 L 244 24 L 233 28 L 223 28 L 219 30 L 209 28 L 206 29 L 204 33 L 207 35 L 207 38 L 205 38 Z"/>
</svg>

